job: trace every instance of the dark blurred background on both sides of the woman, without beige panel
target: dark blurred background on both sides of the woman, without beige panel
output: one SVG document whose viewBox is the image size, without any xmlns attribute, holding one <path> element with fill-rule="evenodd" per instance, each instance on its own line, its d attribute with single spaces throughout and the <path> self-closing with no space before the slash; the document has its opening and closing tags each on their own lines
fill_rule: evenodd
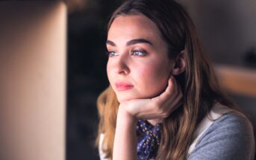
<svg viewBox="0 0 256 160">
<path fill-rule="evenodd" d="M 256 1 L 177 1 L 192 16 L 222 85 L 255 118 Z M 67 159 L 99 159 L 93 142 L 98 122 L 96 99 L 108 86 L 106 25 L 122 0 L 74 0 L 67 4 Z"/>
</svg>

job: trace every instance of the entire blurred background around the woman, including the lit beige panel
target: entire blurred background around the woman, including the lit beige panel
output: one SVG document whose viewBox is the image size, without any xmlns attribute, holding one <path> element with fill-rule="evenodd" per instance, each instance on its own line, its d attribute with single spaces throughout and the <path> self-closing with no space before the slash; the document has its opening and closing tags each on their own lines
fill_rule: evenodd
<svg viewBox="0 0 256 160">
<path fill-rule="evenodd" d="M 0 1 L 0 159 L 5 150 L 19 151 L 12 160 L 99 159 L 107 21 L 122 1 Z M 256 1 L 177 1 L 223 88 L 256 127 Z"/>
</svg>

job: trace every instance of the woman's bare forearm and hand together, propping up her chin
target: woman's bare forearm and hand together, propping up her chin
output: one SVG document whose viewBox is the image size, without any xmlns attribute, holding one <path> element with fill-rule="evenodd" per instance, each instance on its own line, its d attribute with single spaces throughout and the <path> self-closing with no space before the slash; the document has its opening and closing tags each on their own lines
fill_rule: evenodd
<svg viewBox="0 0 256 160">
<path fill-rule="evenodd" d="M 182 97 L 181 86 L 171 76 L 166 91 L 151 99 L 125 100 L 120 103 L 116 119 L 113 144 L 113 160 L 137 159 L 137 118 L 156 119 L 168 117 L 179 105 Z"/>
</svg>

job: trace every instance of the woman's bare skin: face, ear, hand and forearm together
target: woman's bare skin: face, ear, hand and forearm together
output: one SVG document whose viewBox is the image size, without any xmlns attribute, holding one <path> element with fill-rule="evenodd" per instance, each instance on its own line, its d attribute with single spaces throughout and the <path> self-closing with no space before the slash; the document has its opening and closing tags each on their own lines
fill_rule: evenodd
<svg viewBox="0 0 256 160">
<path fill-rule="evenodd" d="M 143 15 L 117 17 L 106 44 L 110 54 L 107 77 L 120 103 L 113 159 L 137 159 L 137 118 L 155 124 L 180 104 L 181 87 L 172 74 L 184 71 L 183 54 L 169 60 L 157 26 Z M 119 82 L 128 83 L 128 89 L 120 91 L 116 87 Z"/>
</svg>

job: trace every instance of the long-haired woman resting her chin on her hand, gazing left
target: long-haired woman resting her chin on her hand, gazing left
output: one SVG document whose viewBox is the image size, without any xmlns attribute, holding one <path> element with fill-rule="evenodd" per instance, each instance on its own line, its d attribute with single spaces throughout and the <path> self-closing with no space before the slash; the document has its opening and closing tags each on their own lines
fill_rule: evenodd
<svg viewBox="0 0 256 160">
<path fill-rule="evenodd" d="M 179 4 L 125 1 L 106 45 L 101 159 L 253 159 L 252 124 L 223 94 Z"/>
</svg>

